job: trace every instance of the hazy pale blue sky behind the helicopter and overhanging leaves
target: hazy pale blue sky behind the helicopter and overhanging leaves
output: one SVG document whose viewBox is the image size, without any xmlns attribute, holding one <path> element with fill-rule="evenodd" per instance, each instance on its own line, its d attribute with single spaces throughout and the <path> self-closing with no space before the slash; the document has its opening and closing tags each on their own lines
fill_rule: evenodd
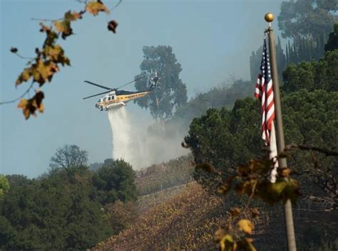
<svg viewBox="0 0 338 251">
<path fill-rule="evenodd" d="M 60 18 L 83 5 L 73 0 L 0 2 L 0 101 L 5 101 L 21 95 L 28 85 L 14 86 L 26 61 L 10 53 L 10 48 L 34 56 L 34 48 L 41 47 L 45 38 L 39 33 L 39 21 L 31 18 Z M 116 3 L 103 2 L 110 8 Z M 71 67 L 61 68 L 52 82 L 42 87 L 45 112 L 26 121 L 16 108 L 17 102 L 0 106 L 0 173 L 39 176 L 64 144 L 86 149 L 89 163 L 111 158 L 112 135 L 106 112 L 96 110 L 96 98 L 82 100 L 101 89 L 85 85 L 83 80 L 111 87 L 133 80 L 140 73 L 143 46 L 173 47 L 189 97 L 232 76 L 249 79 L 251 51 L 262 44 L 262 31 L 267 27 L 263 17 L 268 11 L 277 16 L 280 3 L 124 0 L 110 15 L 86 14 L 72 24 L 75 36 L 58 41 L 71 59 Z M 118 21 L 116 34 L 107 30 L 111 19 Z M 277 18 L 274 27 L 278 33 Z M 133 90 L 133 85 L 128 90 Z M 140 121 L 151 119 L 132 102 L 127 107 Z"/>
</svg>

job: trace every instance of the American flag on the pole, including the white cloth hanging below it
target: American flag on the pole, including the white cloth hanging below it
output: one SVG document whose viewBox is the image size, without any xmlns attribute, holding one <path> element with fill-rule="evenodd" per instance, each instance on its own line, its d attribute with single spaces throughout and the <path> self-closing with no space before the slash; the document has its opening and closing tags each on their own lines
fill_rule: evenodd
<svg viewBox="0 0 338 251">
<path fill-rule="evenodd" d="M 275 161 L 274 167 L 270 173 L 269 180 L 276 182 L 278 162 L 277 144 L 275 135 L 275 105 L 272 88 L 271 66 L 269 52 L 267 50 L 267 39 L 264 38 L 262 64 L 260 74 L 257 78 L 255 97 L 262 101 L 262 139 L 265 145 L 269 147 L 269 157 Z"/>
</svg>

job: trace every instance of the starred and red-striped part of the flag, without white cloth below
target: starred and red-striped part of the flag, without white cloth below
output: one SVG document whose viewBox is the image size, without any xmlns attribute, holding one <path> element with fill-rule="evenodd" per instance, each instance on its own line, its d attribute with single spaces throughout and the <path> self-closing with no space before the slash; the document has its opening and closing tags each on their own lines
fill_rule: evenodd
<svg viewBox="0 0 338 251">
<path fill-rule="evenodd" d="M 255 97 L 262 101 L 262 139 L 270 146 L 270 134 L 275 119 L 275 105 L 272 89 L 272 78 L 267 41 L 264 38 L 262 64 L 257 78 Z"/>
</svg>

